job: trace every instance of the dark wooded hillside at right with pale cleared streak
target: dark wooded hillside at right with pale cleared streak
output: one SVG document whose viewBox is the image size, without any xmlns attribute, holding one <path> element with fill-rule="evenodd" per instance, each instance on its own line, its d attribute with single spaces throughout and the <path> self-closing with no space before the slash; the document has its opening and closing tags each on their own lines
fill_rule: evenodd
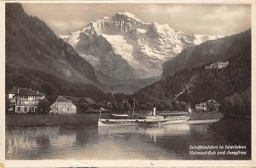
<svg viewBox="0 0 256 168">
<path fill-rule="evenodd" d="M 250 43 L 251 38 L 247 41 L 245 43 Z M 142 102 L 160 102 L 173 101 L 180 93 L 175 101 L 190 102 L 192 107 L 195 103 L 214 98 L 221 102 L 223 111 L 233 113 L 234 108 L 240 106 L 243 113 L 250 113 L 250 91 L 246 90 L 251 87 L 251 45 L 240 48 L 227 61 L 230 64 L 223 69 L 205 69 L 202 66 L 180 70 L 174 76 L 166 76 L 139 90 L 134 96 Z"/>
</svg>

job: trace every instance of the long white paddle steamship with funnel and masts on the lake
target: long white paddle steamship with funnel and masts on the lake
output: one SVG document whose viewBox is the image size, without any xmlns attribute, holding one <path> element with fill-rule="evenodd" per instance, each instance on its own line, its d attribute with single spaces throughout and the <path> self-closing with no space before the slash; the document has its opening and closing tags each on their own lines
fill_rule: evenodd
<svg viewBox="0 0 256 168">
<path fill-rule="evenodd" d="M 181 123 L 189 120 L 188 113 L 176 114 L 176 115 L 156 115 L 156 107 L 154 106 L 153 112 L 149 115 L 137 117 L 134 115 L 134 107 L 132 116 L 128 114 L 109 114 L 107 118 L 101 118 L 98 120 L 98 126 L 131 126 L 131 125 L 168 125 L 172 123 Z"/>
</svg>

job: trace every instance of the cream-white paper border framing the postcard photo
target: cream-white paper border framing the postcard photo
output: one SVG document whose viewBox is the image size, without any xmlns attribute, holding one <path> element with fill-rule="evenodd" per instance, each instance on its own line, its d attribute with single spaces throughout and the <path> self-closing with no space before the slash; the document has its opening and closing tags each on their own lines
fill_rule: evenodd
<svg viewBox="0 0 256 168">
<path fill-rule="evenodd" d="M 251 16 L 252 16 L 252 46 L 256 43 L 256 33 L 254 32 L 255 27 L 255 16 L 256 16 L 256 0 L 250 0 L 250 1 L 242 1 L 242 0 L 182 0 L 182 1 L 170 1 L 170 0 L 161 0 L 161 1 L 7 1 L 6 3 L 251 3 L 252 9 L 251 9 Z M 4 94 L 5 94 L 5 26 L 4 26 L 4 18 L 5 18 L 5 2 L 0 2 L 0 73 L 1 73 L 1 82 L 0 82 L 0 107 L 1 108 L 1 117 L 0 117 L 0 168 L 3 166 L 6 167 L 70 167 L 70 166 L 101 166 L 101 167 L 170 167 L 170 166 L 186 166 L 186 167 L 192 167 L 192 166 L 246 166 L 246 167 L 256 167 L 256 159 L 255 159 L 255 123 L 254 123 L 254 109 L 253 106 L 255 102 L 255 75 L 253 75 L 253 72 L 255 72 L 255 59 L 253 55 L 256 53 L 256 48 L 253 48 L 252 51 L 252 160 L 74 160 L 74 159 L 51 159 L 51 160 L 4 160 L 5 159 L 5 100 L 4 100 Z M 3 162 L 4 165 L 1 164 Z"/>
</svg>

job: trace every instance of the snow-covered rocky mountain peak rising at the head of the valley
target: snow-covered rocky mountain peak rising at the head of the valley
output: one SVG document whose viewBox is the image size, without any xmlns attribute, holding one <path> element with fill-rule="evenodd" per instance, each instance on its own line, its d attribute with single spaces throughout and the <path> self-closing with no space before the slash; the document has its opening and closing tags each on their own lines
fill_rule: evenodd
<svg viewBox="0 0 256 168">
<path fill-rule="evenodd" d="M 128 79 L 160 76 L 162 64 L 182 49 L 222 37 L 186 35 L 169 25 L 145 23 L 125 12 L 103 17 L 60 38 L 70 43 L 96 70 Z"/>
</svg>

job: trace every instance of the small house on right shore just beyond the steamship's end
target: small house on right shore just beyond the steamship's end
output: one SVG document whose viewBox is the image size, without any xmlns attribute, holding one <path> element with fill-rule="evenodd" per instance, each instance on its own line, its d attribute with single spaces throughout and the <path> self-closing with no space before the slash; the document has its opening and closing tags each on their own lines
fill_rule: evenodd
<svg viewBox="0 0 256 168">
<path fill-rule="evenodd" d="M 200 104 L 195 104 L 196 111 L 218 111 L 220 104 L 214 99 L 209 99 L 208 101 L 201 102 Z"/>
</svg>

